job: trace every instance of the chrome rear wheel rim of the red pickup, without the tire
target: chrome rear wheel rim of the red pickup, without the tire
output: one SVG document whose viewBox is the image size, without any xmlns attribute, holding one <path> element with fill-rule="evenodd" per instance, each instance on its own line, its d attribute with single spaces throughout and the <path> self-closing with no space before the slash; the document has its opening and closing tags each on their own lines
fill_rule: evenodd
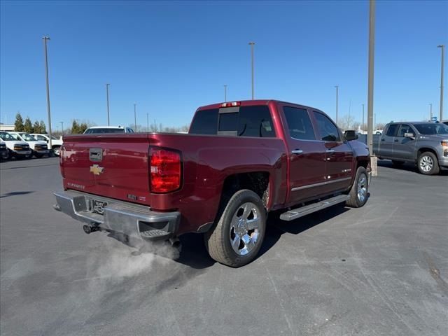
<svg viewBox="0 0 448 336">
<path fill-rule="evenodd" d="M 257 246 L 262 228 L 255 204 L 241 204 L 230 223 L 230 245 L 237 255 L 247 255 Z"/>
</svg>

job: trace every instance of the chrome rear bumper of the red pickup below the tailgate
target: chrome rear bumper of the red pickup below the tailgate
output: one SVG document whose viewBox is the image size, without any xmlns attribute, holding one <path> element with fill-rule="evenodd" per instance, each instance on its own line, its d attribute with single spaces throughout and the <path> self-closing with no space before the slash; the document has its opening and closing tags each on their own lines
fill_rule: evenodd
<svg viewBox="0 0 448 336">
<path fill-rule="evenodd" d="M 77 221 L 103 230 L 121 232 L 132 237 L 158 240 L 176 235 L 181 214 L 178 211 L 158 212 L 148 207 L 120 202 L 107 197 L 80 193 L 73 190 L 54 194 L 55 210 L 62 211 Z M 102 209 L 94 209 L 92 200 L 107 202 Z M 99 214 L 102 212 L 102 214 Z"/>
</svg>

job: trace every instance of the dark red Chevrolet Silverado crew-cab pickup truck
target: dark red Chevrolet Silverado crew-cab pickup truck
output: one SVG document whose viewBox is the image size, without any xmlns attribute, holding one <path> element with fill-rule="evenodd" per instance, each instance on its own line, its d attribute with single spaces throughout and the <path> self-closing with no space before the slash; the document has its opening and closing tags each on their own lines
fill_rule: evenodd
<svg viewBox="0 0 448 336">
<path fill-rule="evenodd" d="M 55 209 L 142 239 L 204 234 L 232 267 L 255 258 L 269 211 L 283 221 L 368 198 L 370 155 L 322 111 L 276 100 L 202 106 L 189 134 L 64 137 Z"/>
</svg>

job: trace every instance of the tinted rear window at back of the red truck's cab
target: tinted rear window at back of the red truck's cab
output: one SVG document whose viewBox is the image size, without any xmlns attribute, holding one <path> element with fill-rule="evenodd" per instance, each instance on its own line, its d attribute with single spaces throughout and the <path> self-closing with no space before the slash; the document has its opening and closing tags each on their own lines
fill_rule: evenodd
<svg viewBox="0 0 448 336">
<path fill-rule="evenodd" d="M 275 137 L 271 113 L 266 105 L 241 106 L 239 111 L 226 109 L 198 111 L 190 127 L 190 134 L 218 134 L 235 132 L 238 137 Z"/>
</svg>

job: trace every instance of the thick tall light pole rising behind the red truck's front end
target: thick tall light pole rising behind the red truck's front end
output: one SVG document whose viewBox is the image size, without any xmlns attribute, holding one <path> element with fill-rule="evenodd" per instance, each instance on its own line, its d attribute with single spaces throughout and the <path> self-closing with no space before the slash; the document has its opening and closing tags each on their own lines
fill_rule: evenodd
<svg viewBox="0 0 448 336">
<path fill-rule="evenodd" d="M 373 77 L 375 48 L 375 0 L 369 3 L 369 63 L 367 80 L 367 145 L 370 152 L 372 176 L 377 176 L 377 157 L 373 154 Z"/>
</svg>

